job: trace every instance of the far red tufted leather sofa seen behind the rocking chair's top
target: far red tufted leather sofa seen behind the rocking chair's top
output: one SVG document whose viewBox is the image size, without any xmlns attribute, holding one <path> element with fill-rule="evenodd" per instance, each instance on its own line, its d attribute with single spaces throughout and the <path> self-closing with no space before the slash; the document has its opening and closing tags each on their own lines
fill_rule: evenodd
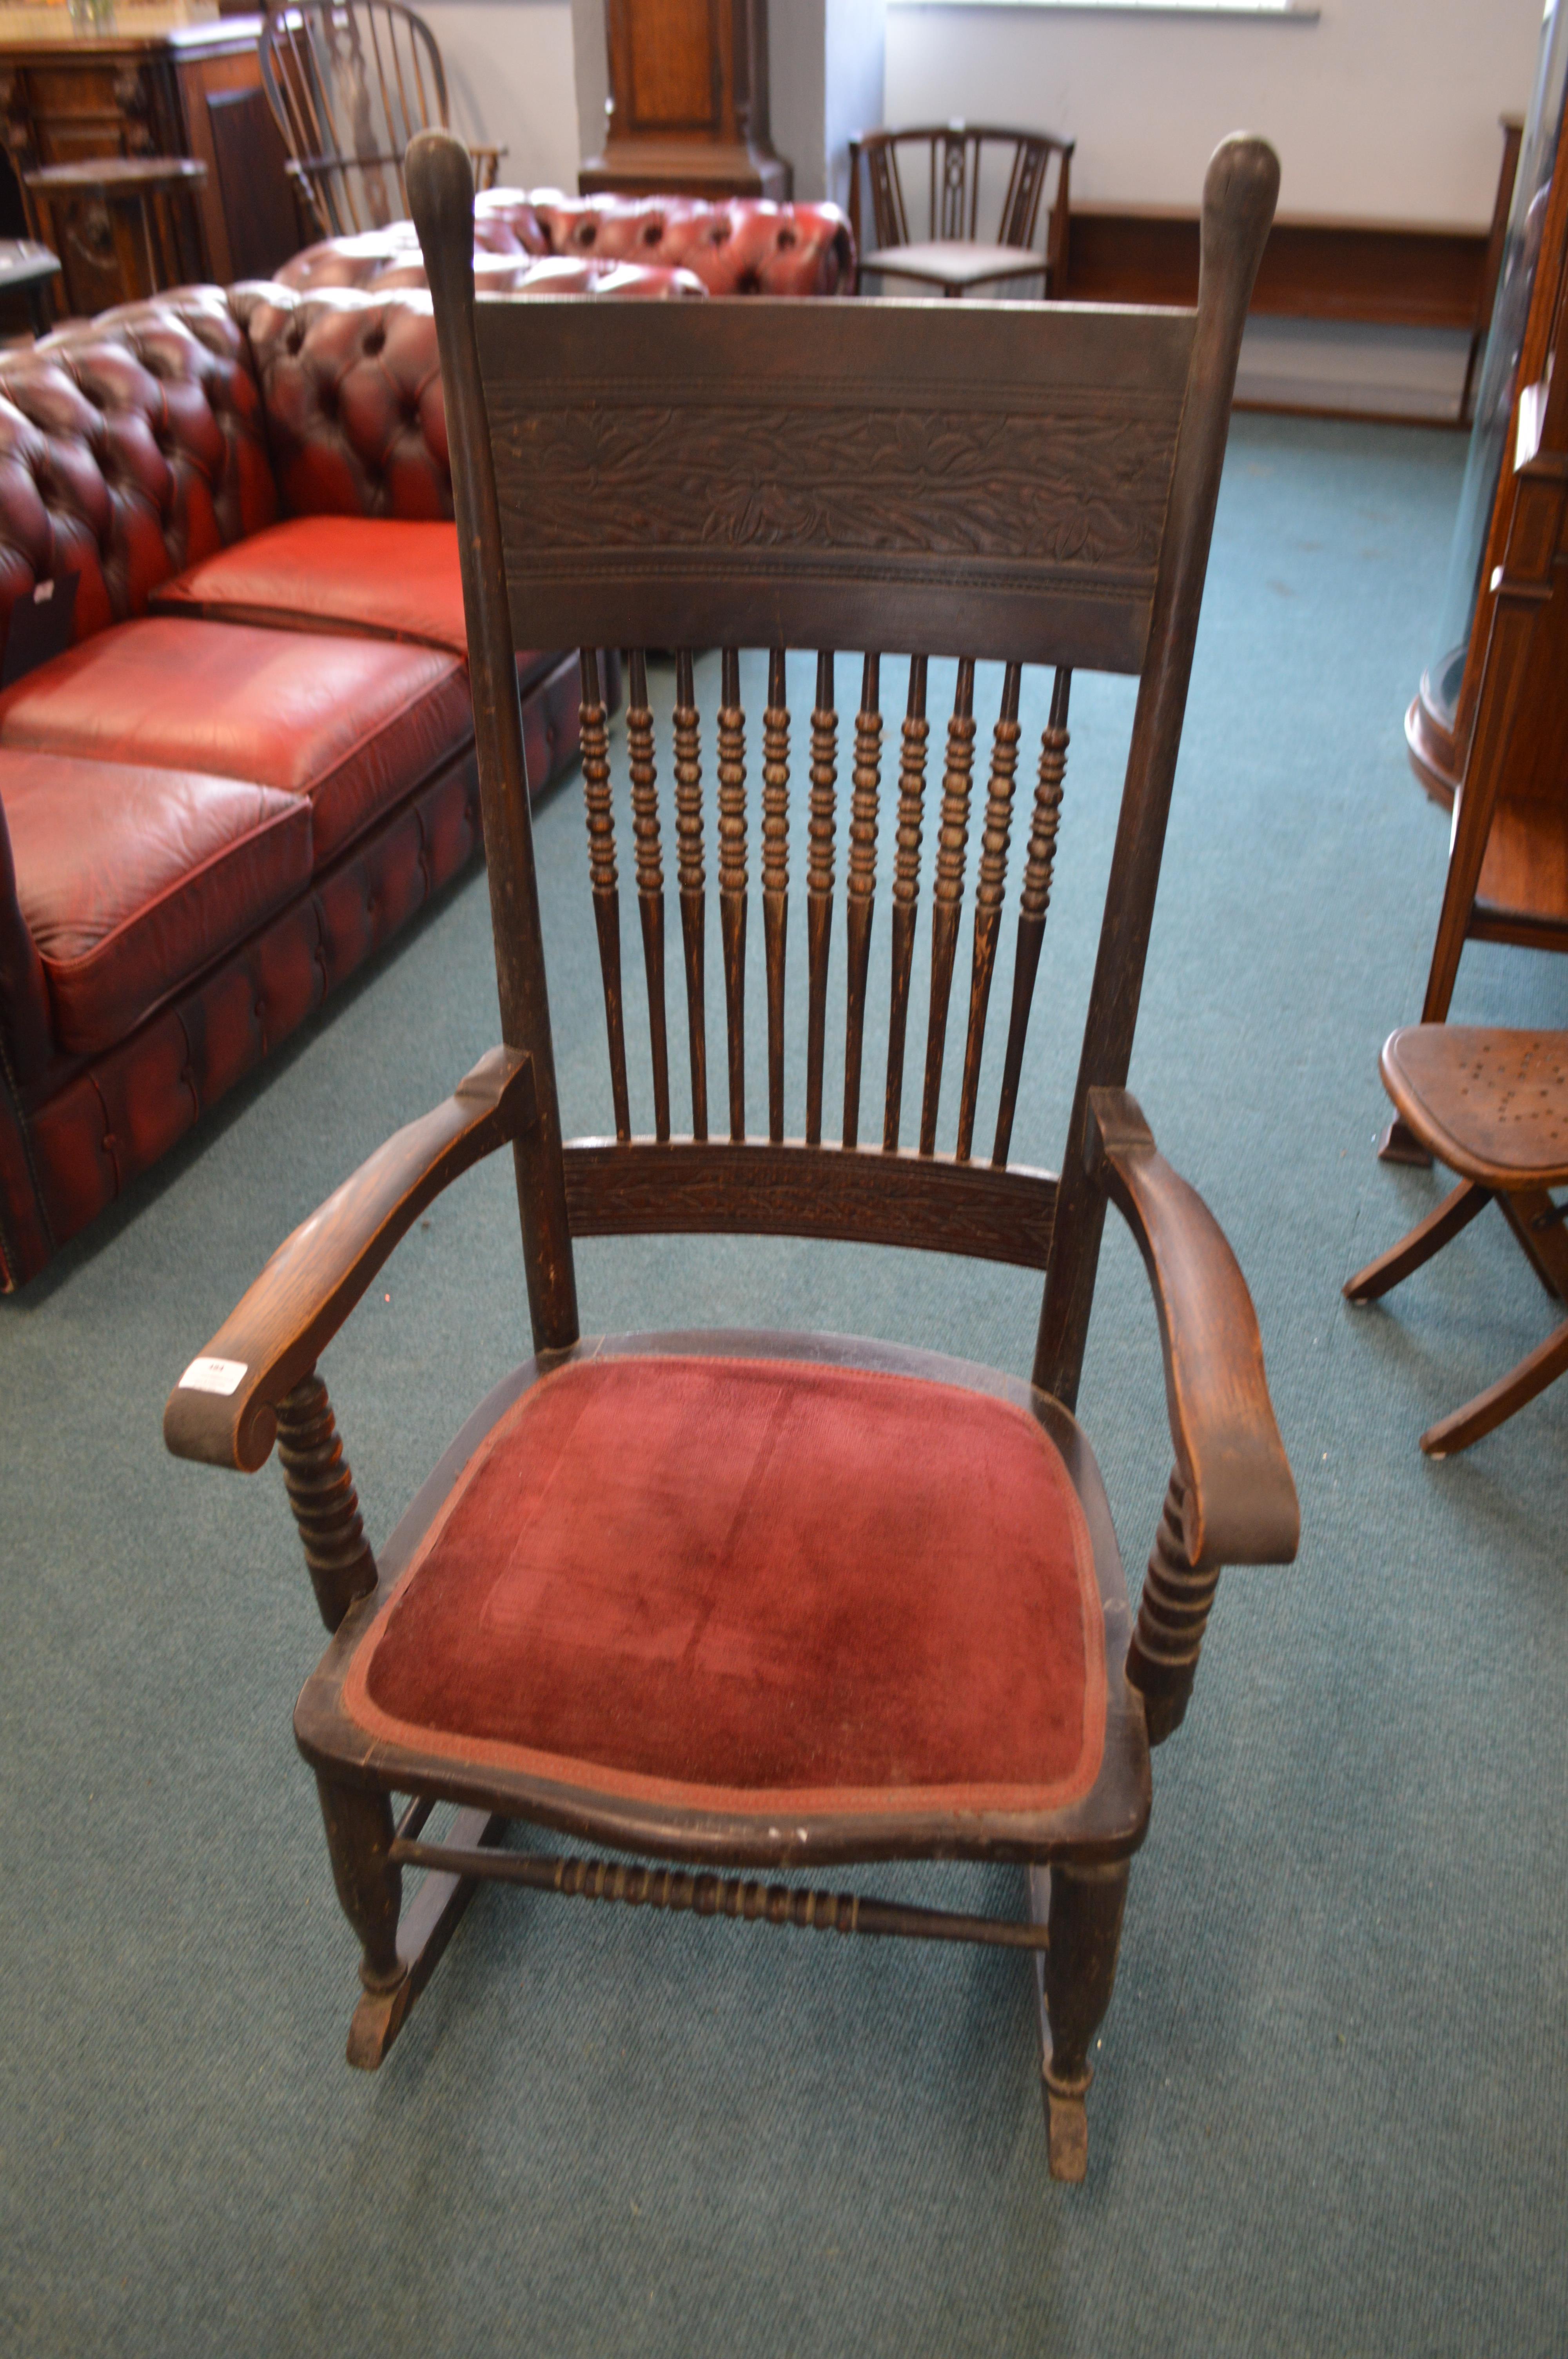
<svg viewBox="0 0 1568 2359">
<path fill-rule="evenodd" d="M 413 222 L 391 222 L 307 245 L 278 276 L 387 290 L 424 285 L 424 262 Z M 474 198 L 474 276 L 495 295 L 854 295 L 856 250 L 837 205 L 488 189 Z"/>
</svg>

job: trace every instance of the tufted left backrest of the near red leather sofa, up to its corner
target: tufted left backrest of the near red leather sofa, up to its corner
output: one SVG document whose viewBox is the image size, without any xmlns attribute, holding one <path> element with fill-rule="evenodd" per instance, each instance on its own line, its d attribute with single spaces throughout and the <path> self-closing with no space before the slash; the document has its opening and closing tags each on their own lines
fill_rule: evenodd
<svg viewBox="0 0 1568 2359">
<path fill-rule="evenodd" d="M 0 627 L 78 571 L 73 635 L 271 524 L 262 396 L 219 288 L 123 304 L 0 368 Z"/>
</svg>

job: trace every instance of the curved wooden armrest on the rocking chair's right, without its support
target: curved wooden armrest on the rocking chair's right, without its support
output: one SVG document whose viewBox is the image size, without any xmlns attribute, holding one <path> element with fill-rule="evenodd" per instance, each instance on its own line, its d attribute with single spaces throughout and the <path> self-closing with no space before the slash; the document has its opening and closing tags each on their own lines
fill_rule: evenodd
<svg viewBox="0 0 1568 2359">
<path fill-rule="evenodd" d="M 1089 1090 L 1085 1163 L 1137 1236 L 1155 1293 L 1188 1564 L 1290 1564 L 1302 1510 L 1224 1229 L 1127 1090 Z"/>
</svg>

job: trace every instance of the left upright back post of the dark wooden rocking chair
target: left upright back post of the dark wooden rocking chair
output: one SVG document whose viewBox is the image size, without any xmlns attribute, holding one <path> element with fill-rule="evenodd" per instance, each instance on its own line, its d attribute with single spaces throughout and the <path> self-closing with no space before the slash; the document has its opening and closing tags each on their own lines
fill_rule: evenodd
<svg viewBox="0 0 1568 2359">
<path fill-rule="evenodd" d="M 441 349 L 502 1040 L 533 1057 L 538 1097 L 538 1121 L 512 1149 L 528 1314 L 535 1352 L 564 1352 L 578 1340 L 578 1279 L 566 1217 L 523 712 L 490 425 L 474 342 L 474 167 L 467 149 L 446 132 L 420 132 L 408 151 L 408 193 L 429 267 Z"/>
</svg>

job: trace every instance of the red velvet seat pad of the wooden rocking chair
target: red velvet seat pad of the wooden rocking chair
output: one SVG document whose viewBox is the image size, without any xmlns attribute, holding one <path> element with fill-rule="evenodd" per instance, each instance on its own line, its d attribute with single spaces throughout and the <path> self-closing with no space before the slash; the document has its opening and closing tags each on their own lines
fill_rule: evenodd
<svg viewBox="0 0 1568 2359">
<path fill-rule="evenodd" d="M 467 1463 L 344 1703 L 394 1743 L 712 1809 L 1052 1809 L 1103 1746 L 1089 1536 L 1009 1401 L 585 1359 Z"/>
</svg>

